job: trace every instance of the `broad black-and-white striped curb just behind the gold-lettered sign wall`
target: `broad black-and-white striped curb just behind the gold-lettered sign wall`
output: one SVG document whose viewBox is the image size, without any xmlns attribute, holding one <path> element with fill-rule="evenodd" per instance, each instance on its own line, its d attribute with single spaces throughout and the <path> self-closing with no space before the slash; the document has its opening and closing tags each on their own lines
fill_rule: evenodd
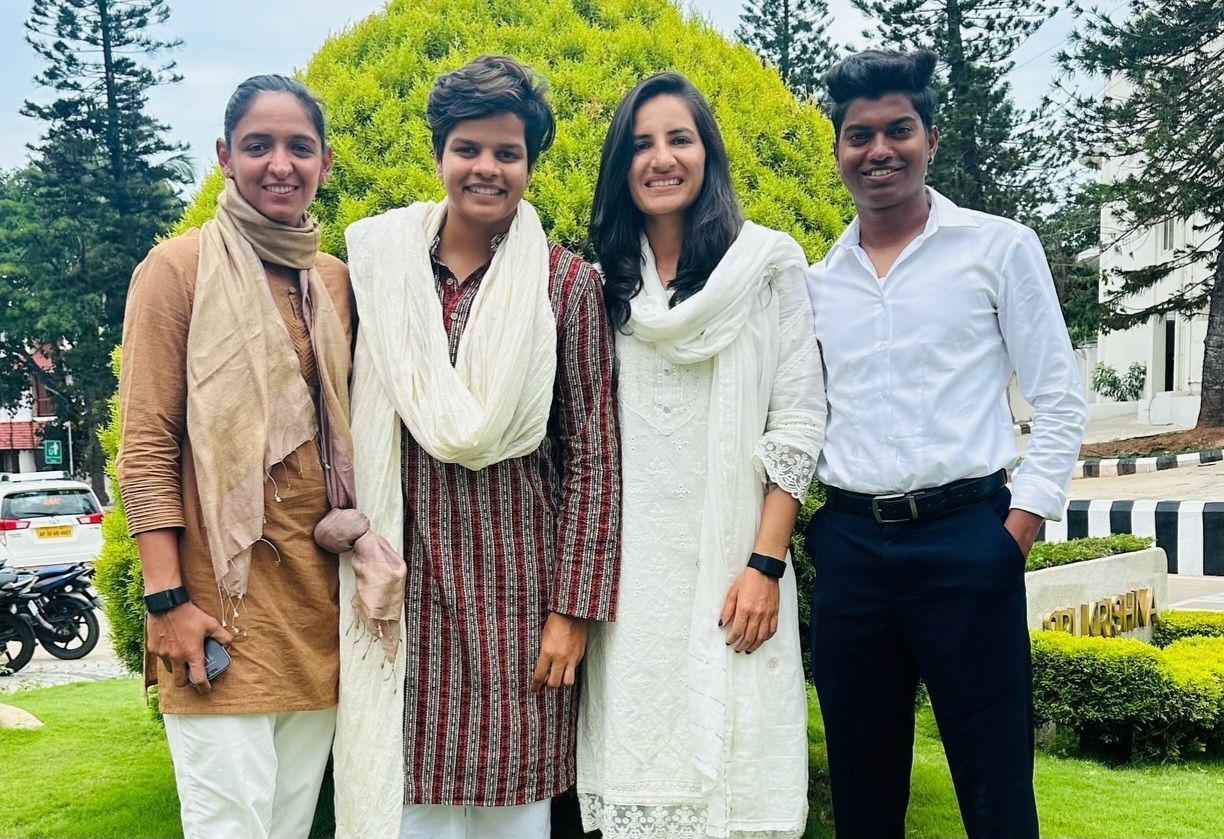
<svg viewBox="0 0 1224 839">
<path fill-rule="evenodd" d="M 1170 574 L 1224 576 L 1224 501 L 1069 501 L 1061 522 L 1045 522 L 1042 541 L 1133 533 L 1152 536 Z"/>
</svg>

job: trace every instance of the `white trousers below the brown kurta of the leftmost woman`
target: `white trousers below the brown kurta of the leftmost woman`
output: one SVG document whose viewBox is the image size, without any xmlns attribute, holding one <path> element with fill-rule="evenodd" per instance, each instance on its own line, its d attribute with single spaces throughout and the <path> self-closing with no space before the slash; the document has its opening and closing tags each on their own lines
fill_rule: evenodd
<svg viewBox="0 0 1224 839">
<path fill-rule="evenodd" d="M 166 714 L 184 839 L 306 839 L 335 708 Z"/>
</svg>

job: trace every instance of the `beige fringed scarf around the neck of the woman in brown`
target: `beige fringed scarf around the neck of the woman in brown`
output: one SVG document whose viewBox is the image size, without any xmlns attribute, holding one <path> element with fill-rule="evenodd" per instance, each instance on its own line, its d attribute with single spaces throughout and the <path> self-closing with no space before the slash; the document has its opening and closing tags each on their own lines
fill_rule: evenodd
<svg viewBox="0 0 1224 839">
<path fill-rule="evenodd" d="M 359 614 L 386 639 L 387 615 L 398 620 L 403 561 L 389 545 L 365 536 L 354 519 L 353 438 L 349 432 L 349 345 L 344 325 L 315 268 L 318 223 L 301 227 L 267 218 L 233 181 L 201 230 L 200 268 L 187 333 L 187 437 L 200 468 L 197 484 L 217 585 L 229 610 L 246 594 L 251 547 L 263 535 L 268 472 L 319 434 L 333 508 L 319 523 L 332 551 L 364 547 L 366 584 Z M 311 401 L 297 354 L 272 299 L 262 262 L 300 272 L 304 316 L 315 349 L 321 405 Z M 317 418 L 317 419 L 316 419 Z M 339 513 L 349 513 L 338 517 Z M 395 582 L 398 579 L 398 593 Z M 384 645 L 387 641 L 384 641 Z M 388 652 L 394 657 L 394 650 Z"/>
</svg>

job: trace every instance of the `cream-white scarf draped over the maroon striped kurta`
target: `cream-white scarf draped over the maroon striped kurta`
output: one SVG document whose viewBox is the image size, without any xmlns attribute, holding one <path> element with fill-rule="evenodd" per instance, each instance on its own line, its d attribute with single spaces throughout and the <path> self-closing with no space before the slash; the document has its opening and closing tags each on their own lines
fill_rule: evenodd
<svg viewBox="0 0 1224 839">
<path fill-rule="evenodd" d="M 372 529 L 404 544 L 400 424 L 432 457 L 483 469 L 540 447 L 557 365 L 548 240 L 526 201 L 481 279 L 450 364 L 430 246 L 447 203 L 415 203 L 345 231 L 360 320 L 353 363 L 356 495 Z M 405 559 L 408 551 L 405 551 Z M 337 837 L 399 835 L 404 792 L 404 645 L 388 666 L 349 632 L 354 576 L 340 562 Z M 403 621 L 400 622 L 403 625 Z"/>
</svg>

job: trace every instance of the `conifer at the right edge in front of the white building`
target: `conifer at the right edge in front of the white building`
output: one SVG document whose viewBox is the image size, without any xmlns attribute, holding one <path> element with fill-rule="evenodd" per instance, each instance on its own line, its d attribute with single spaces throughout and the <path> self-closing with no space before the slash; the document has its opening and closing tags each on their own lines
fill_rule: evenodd
<svg viewBox="0 0 1224 839">
<path fill-rule="evenodd" d="M 1088 13 L 1059 56 L 1069 71 L 1111 80 L 1106 96 L 1071 94 L 1070 137 L 1110 170 L 1102 191 L 1121 239 L 1193 219 L 1195 241 L 1164 262 L 1106 278 L 1103 327 L 1207 309 L 1198 426 L 1224 426 L 1224 2 L 1131 0 L 1129 11 L 1120 23 Z M 1136 306 L 1137 292 L 1182 266 L 1202 266 L 1200 279 Z"/>
</svg>

